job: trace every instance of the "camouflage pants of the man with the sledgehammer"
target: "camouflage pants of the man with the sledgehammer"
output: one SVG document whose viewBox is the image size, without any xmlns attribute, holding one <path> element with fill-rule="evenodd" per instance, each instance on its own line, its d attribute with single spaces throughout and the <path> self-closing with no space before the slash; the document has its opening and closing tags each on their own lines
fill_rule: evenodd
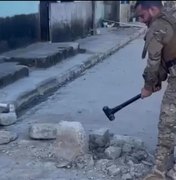
<svg viewBox="0 0 176 180">
<path fill-rule="evenodd" d="M 163 96 L 158 124 L 158 145 L 156 148 L 156 168 L 167 171 L 173 161 L 176 129 L 176 77 L 168 78 Z"/>
</svg>

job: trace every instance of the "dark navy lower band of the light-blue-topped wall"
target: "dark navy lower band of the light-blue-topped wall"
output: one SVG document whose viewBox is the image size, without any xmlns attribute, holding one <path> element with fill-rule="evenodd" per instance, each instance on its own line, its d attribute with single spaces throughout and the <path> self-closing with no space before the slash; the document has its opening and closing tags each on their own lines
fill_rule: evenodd
<svg viewBox="0 0 176 180">
<path fill-rule="evenodd" d="M 39 41 L 38 14 L 0 18 L 0 53 Z"/>
</svg>

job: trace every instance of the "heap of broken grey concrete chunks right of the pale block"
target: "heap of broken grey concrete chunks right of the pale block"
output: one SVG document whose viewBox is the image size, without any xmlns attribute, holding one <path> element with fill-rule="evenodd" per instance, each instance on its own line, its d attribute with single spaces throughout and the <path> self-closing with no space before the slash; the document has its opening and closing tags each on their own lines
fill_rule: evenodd
<svg viewBox="0 0 176 180">
<path fill-rule="evenodd" d="M 90 133 L 89 149 L 95 168 L 120 180 L 140 179 L 153 166 L 153 156 L 134 137 L 113 135 L 108 129 Z"/>
</svg>

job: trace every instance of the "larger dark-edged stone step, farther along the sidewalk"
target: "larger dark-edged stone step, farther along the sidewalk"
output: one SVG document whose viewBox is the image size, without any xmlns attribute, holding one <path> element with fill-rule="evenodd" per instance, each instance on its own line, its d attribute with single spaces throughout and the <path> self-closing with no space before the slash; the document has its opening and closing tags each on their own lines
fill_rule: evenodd
<svg viewBox="0 0 176 180">
<path fill-rule="evenodd" d="M 77 54 L 79 44 L 75 42 L 38 42 L 25 48 L 3 53 L 6 62 L 18 62 L 28 67 L 48 68 Z"/>
</svg>

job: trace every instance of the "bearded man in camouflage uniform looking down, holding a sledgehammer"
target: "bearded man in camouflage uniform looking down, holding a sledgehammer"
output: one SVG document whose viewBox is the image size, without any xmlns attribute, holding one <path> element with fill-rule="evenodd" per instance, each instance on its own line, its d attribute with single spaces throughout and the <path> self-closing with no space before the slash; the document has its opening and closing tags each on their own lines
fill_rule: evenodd
<svg viewBox="0 0 176 180">
<path fill-rule="evenodd" d="M 155 166 L 144 179 L 162 180 L 168 175 L 174 179 L 168 170 L 173 159 L 176 129 L 176 19 L 171 13 L 164 12 L 161 1 L 138 1 L 135 13 L 148 27 L 142 53 L 145 58 L 148 52 L 148 59 L 141 98 L 160 90 L 162 81 L 168 78 L 160 110 Z"/>
</svg>

